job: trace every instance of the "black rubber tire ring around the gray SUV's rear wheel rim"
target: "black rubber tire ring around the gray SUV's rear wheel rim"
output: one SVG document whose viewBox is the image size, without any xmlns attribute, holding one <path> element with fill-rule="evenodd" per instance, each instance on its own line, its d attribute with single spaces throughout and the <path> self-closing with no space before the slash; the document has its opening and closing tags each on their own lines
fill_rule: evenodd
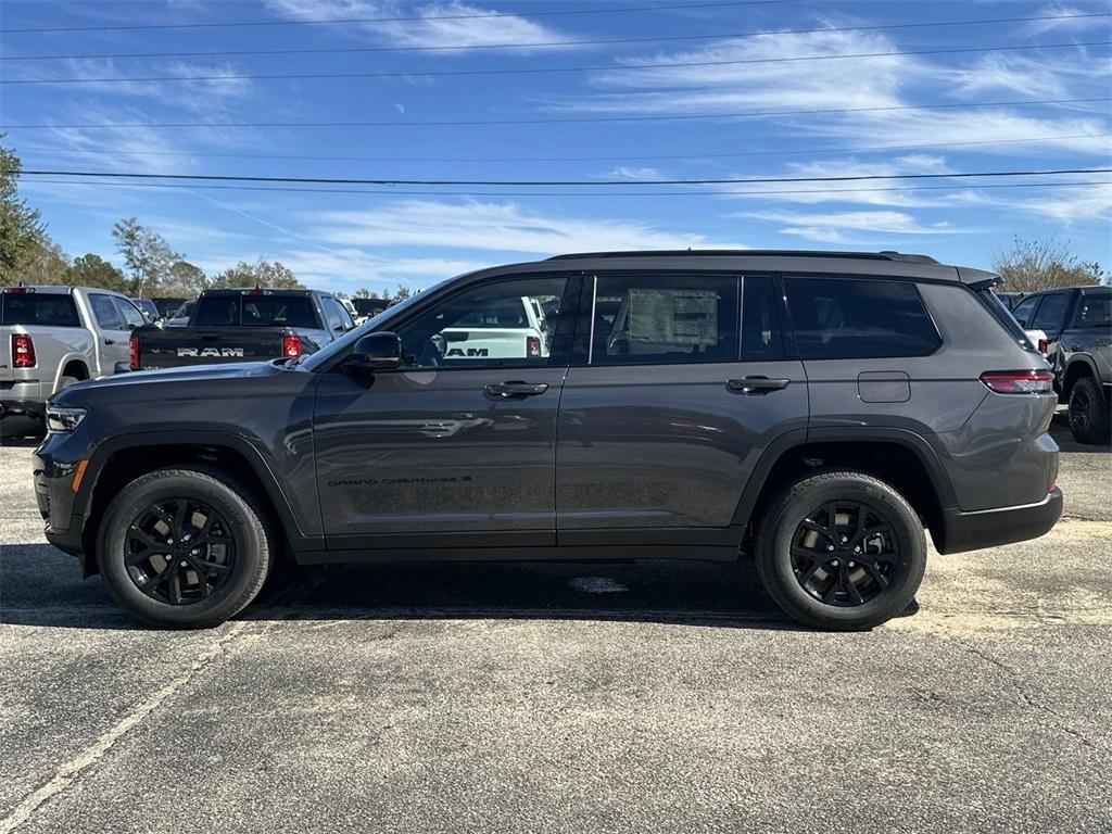
<svg viewBox="0 0 1112 834">
<path fill-rule="evenodd" d="M 800 523 L 817 507 L 832 500 L 861 502 L 881 512 L 892 525 L 900 549 L 900 578 L 863 605 L 840 607 L 815 599 L 803 589 L 792 567 L 792 539 Z M 772 573 L 780 592 L 792 607 L 826 627 L 867 628 L 900 614 L 915 596 L 926 564 L 925 540 L 919 517 L 894 490 L 855 478 L 831 479 L 788 499 L 775 519 L 772 534 Z"/>
</svg>

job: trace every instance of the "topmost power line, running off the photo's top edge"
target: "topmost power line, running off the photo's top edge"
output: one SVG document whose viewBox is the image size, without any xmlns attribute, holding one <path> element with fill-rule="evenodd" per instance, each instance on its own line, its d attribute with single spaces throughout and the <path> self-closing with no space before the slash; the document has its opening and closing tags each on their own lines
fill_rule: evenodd
<svg viewBox="0 0 1112 834">
<path fill-rule="evenodd" d="M 628 6 L 606 9 L 548 9 L 525 13 L 513 11 L 484 12 L 481 14 L 426 14 L 396 18 L 332 18 L 327 20 L 238 20 L 219 23 L 131 23 L 121 26 L 67 26 L 33 29 L 3 29 L 0 34 L 30 34 L 32 32 L 118 32 L 150 29 L 227 29 L 257 26 L 336 26 L 342 23 L 403 23 L 425 20 L 479 20 L 485 18 L 550 18 L 573 14 L 628 14 L 632 12 L 684 11 L 698 9 L 721 9 L 738 6 L 782 6 L 803 0 L 736 0 L 734 2 L 677 3 L 673 6 Z"/>
</svg>

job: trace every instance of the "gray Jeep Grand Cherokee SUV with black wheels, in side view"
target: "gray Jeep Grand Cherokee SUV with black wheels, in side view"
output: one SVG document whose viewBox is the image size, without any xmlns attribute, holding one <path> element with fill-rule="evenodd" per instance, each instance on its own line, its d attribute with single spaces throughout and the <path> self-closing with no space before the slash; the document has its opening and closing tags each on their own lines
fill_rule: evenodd
<svg viewBox="0 0 1112 834">
<path fill-rule="evenodd" d="M 994 275 L 894 252 L 573 255 L 460 276 L 310 356 L 73 385 L 34 481 L 116 600 L 211 626 L 276 559 L 751 555 L 815 627 L 1062 512 L 1056 401 Z M 545 311 L 545 344 L 468 350 Z M 172 406 L 169 407 L 168 406 Z"/>
</svg>

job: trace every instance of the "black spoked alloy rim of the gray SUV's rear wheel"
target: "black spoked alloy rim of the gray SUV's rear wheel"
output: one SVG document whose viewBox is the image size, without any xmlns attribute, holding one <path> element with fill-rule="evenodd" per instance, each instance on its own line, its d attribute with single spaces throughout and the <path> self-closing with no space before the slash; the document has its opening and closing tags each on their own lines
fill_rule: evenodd
<svg viewBox="0 0 1112 834">
<path fill-rule="evenodd" d="M 791 555 L 800 586 L 826 605 L 864 605 L 900 578 L 891 522 L 860 500 L 833 500 L 808 513 L 792 536 Z"/>
</svg>

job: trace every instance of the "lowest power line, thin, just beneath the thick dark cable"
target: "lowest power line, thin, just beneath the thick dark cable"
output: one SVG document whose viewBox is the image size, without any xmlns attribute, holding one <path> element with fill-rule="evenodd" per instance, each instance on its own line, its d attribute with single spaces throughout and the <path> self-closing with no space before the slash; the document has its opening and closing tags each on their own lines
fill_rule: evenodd
<svg viewBox="0 0 1112 834">
<path fill-rule="evenodd" d="M 885 188 L 838 188 L 832 191 L 830 188 L 793 188 L 793 189 L 761 189 L 756 191 L 746 190 L 712 190 L 699 189 L 696 191 L 428 191 L 428 190 L 405 190 L 405 189 L 366 189 L 366 188 L 286 188 L 281 186 L 219 186 L 219 185 L 195 185 L 187 182 L 113 182 L 110 180 L 88 180 L 72 179 L 37 179 L 29 185 L 51 183 L 68 186 L 115 186 L 118 188 L 163 188 L 192 190 L 216 190 L 216 191 L 275 191 L 278 193 L 340 193 L 340 195 L 391 195 L 391 196 L 417 196 L 417 197 L 735 197 L 735 196 L 764 196 L 764 195 L 851 195 L 851 193 L 876 193 L 892 191 L 961 191 L 971 186 L 895 186 Z M 1112 180 L 1063 180 L 1060 182 L 990 182 L 972 186 L 977 190 L 987 188 L 1069 188 L 1078 186 L 1112 186 Z"/>
</svg>

